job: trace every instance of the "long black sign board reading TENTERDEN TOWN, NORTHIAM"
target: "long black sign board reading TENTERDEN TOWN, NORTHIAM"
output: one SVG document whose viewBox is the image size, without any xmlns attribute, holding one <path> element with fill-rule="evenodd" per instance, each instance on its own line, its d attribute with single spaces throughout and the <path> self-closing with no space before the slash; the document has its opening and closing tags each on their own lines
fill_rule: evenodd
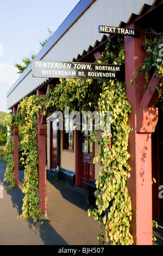
<svg viewBox="0 0 163 256">
<path fill-rule="evenodd" d="M 32 76 L 116 80 L 121 77 L 121 67 L 112 64 L 32 60 Z"/>
</svg>

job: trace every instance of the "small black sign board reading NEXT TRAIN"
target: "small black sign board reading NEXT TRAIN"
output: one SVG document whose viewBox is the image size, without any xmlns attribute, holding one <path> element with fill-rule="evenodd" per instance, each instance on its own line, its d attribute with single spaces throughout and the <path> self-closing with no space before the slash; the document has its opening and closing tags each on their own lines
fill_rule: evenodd
<svg viewBox="0 0 163 256">
<path fill-rule="evenodd" d="M 98 26 L 99 33 L 106 33 L 106 34 L 118 34 L 118 35 L 129 35 L 134 37 L 140 37 L 140 31 L 136 29 L 130 28 L 116 28 L 116 27 L 109 27 L 109 26 Z"/>
</svg>

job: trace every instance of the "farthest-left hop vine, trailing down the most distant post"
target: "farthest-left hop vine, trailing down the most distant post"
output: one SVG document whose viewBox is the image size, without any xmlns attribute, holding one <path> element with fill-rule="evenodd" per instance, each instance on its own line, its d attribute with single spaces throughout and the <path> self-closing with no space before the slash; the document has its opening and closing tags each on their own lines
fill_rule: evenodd
<svg viewBox="0 0 163 256">
<path fill-rule="evenodd" d="M 15 187 L 15 174 L 14 174 L 14 137 L 13 137 L 13 129 L 14 129 L 14 121 L 13 121 L 13 115 L 9 114 L 4 119 L 4 123 L 8 126 L 8 132 L 7 132 L 7 143 L 4 147 L 4 160 L 7 162 L 7 167 L 4 174 L 4 180 L 7 181 L 10 185 L 7 186 L 7 188 L 11 189 Z"/>
</svg>

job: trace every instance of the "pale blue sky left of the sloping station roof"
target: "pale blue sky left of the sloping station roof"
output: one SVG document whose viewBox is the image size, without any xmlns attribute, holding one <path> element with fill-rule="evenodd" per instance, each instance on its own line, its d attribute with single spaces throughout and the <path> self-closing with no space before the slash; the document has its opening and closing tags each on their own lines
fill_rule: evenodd
<svg viewBox="0 0 163 256">
<path fill-rule="evenodd" d="M 20 76 L 15 63 L 37 54 L 40 41 L 55 32 L 79 0 L 0 0 L 0 111 L 7 109 L 7 92 Z"/>
</svg>

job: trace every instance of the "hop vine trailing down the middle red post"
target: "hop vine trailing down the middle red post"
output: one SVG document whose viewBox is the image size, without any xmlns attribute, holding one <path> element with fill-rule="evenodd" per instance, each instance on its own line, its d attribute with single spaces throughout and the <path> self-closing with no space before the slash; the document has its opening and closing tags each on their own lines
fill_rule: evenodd
<svg viewBox="0 0 163 256">
<path fill-rule="evenodd" d="M 32 95 L 25 97 L 18 106 L 16 123 L 23 126 L 22 130 L 22 164 L 24 164 L 24 185 L 21 217 L 32 218 L 34 222 L 39 220 L 41 209 L 39 208 L 39 174 L 37 169 L 37 115 L 43 107 L 43 96 Z M 26 158 L 26 160 L 25 160 Z"/>
</svg>

